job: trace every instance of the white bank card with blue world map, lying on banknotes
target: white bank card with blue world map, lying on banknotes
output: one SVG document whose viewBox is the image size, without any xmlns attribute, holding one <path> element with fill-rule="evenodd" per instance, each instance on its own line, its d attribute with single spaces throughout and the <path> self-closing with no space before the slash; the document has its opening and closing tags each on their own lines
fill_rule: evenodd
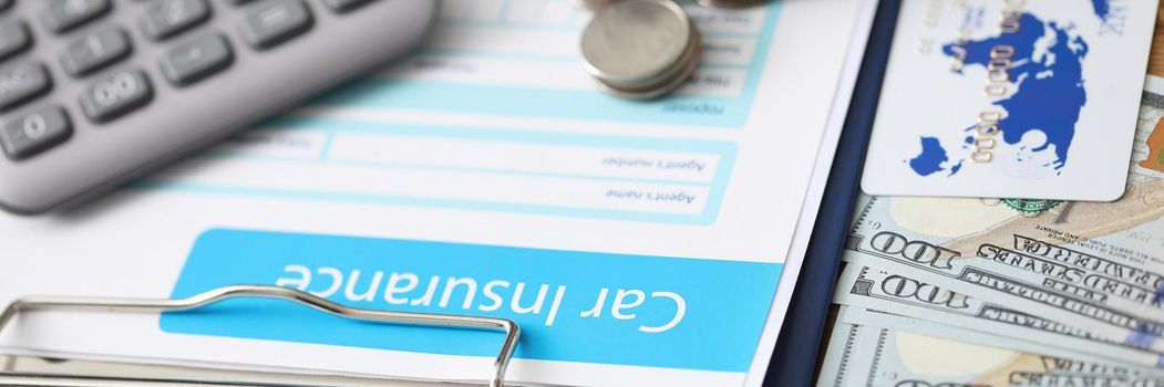
<svg viewBox="0 0 1164 387">
<path fill-rule="evenodd" d="M 1157 0 L 907 0 L 861 187 L 1123 194 Z"/>
</svg>

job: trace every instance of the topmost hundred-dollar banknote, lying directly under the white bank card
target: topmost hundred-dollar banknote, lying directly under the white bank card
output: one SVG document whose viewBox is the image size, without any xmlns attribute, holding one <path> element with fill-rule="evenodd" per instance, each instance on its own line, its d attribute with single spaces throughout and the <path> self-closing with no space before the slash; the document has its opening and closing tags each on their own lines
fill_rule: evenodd
<svg viewBox="0 0 1164 387">
<path fill-rule="evenodd" d="M 1164 83 L 1112 203 L 863 198 L 845 259 L 1164 352 Z M 892 266 L 890 266 L 892 265 Z"/>
</svg>

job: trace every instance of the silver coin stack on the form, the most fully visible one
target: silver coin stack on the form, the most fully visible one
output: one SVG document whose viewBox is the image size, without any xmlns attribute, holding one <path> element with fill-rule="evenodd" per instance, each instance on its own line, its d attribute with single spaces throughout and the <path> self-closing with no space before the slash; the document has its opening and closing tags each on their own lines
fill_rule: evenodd
<svg viewBox="0 0 1164 387">
<path fill-rule="evenodd" d="M 602 7 L 582 33 L 587 71 L 625 98 L 666 94 L 695 72 L 698 29 L 672 0 L 626 0 Z"/>
</svg>

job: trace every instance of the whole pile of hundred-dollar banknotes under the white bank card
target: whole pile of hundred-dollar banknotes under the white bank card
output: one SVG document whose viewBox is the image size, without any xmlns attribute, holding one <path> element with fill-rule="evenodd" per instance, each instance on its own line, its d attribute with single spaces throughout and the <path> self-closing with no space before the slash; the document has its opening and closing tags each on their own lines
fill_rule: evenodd
<svg viewBox="0 0 1164 387">
<path fill-rule="evenodd" d="M 860 198 L 821 386 L 1164 386 L 1164 79 L 1115 202 Z"/>
</svg>

